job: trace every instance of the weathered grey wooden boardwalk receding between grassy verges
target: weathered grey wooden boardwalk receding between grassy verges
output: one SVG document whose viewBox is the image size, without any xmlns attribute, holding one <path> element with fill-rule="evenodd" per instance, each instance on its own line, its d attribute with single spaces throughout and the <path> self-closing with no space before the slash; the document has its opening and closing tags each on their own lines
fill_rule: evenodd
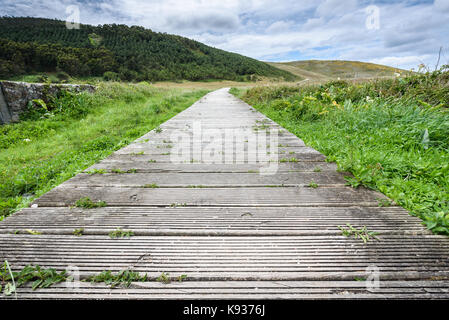
<svg viewBox="0 0 449 320">
<path fill-rule="evenodd" d="M 271 139 L 280 130 L 270 153 L 276 160 L 250 161 L 252 140 L 240 141 L 247 156 L 242 158 L 226 135 L 221 142 L 195 135 L 199 121 L 202 132 L 219 129 L 220 135 L 269 130 Z M 132 269 L 152 277 L 165 272 L 174 281 L 129 288 L 87 282 L 36 291 L 25 286 L 19 298 L 449 298 L 447 237 L 430 234 L 400 207 L 379 207 L 383 195 L 345 186 L 335 164 L 226 89 L 160 128 L 1 222 L 0 260 L 16 269 L 76 269 L 81 279 Z M 176 133 L 190 139 L 175 140 Z M 174 161 L 186 146 L 189 157 Z M 211 147 L 222 161 L 203 154 Z M 274 174 L 259 171 L 270 165 Z M 107 206 L 70 207 L 82 197 Z M 380 240 L 364 244 L 345 237 L 338 226 L 346 223 L 366 225 Z M 118 227 L 134 236 L 111 239 L 109 232 Z M 78 228 L 83 236 L 73 235 Z M 42 234 L 14 234 L 26 229 Z M 185 281 L 175 280 L 183 274 Z"/>
</svg>

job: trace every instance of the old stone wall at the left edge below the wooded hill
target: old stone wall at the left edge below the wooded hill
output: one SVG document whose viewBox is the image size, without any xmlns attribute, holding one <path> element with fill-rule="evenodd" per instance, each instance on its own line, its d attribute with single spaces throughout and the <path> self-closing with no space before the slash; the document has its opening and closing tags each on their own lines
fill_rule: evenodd
<svg viewBox="0 0 449 320">
<path fill-rule="evenodd" d="M 15 81 L 0 81 L 0 124 L 19 121 L 20 114 L 26 110 L 33 99 L 47 100 L 61 90 L 74 92 L 94 92 L 89 84 L 44 84 Z"/>
</svg>

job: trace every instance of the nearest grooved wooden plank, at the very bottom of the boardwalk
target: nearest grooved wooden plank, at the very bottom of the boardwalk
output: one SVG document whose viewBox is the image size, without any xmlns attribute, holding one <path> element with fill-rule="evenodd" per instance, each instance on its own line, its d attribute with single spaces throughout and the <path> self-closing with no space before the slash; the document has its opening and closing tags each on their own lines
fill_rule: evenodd
<svg viewBox="0 0 449 320">
<path fill-rule="evenodd" d="M 129 288 L 76 282 L 71 289 L 57 284 L 48 289 L 19 289 L 29 299 L 447 299 L 446 281 L 384 281 L 367 287 L 362 281 L 173 281 L 133 282 Z"/>
</svg>

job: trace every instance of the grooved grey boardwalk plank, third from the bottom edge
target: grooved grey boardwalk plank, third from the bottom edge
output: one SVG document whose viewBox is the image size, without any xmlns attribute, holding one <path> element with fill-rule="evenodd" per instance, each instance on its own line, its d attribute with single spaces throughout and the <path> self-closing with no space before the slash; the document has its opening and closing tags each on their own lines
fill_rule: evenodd
<svg viewBox="0 0 449 320">
<path fill-rule="evenodd" d="M 380 234 L 428 233 L 418 218 L 402 208 L 279 207 L 279 208 L 29 208 L 0 224 L 1 233 L 33 229 L 45 234 L 108 234 L 117 227 L 136 235 L 339 235 L 346 223 Z"/>
</svg>

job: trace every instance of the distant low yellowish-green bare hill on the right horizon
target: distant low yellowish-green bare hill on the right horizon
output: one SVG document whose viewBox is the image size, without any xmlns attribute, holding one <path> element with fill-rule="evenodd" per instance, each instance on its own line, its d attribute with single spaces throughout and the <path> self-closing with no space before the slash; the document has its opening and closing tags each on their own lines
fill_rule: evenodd
<svg viewBox="0 0 449 320">
<path fill-rule="evenodd" d="M 269 63 L 273 67 L 288 71 L 309 80 L 358 79 L 391 77 L 404 70 L 374 63 L 344 60 L 304 60 Z"/>
</svg>

